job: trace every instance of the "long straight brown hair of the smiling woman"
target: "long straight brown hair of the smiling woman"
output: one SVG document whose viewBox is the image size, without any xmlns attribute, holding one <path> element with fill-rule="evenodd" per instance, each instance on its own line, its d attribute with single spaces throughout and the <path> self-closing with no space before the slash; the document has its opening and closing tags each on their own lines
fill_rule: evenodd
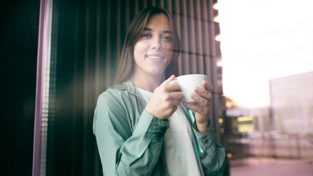
<svg viewBox="0 0 313 176">
<path fill-rule="evenodd" d="M 170 23 L 170 28 L 172 30 L 172 44 L 173 44 L 173 57 L 172 61 L 169 63 L 167 68 L 165 68 L 164 76 L 169 77 L 171 74 L 178 74 L 178 56 L 180 54 L 180 39 L 177 32 L 176 25 L 174 23 L 173 17 L 169 11 L 161 7 L 146 7 L 142 9 L 131 21 L 124 45 L 122 48 L 120 60 L 116 70 L 115 83 L 123 82 L 130 78 L 134 69 L 134 57 L 133 49 L 136 41 L 138 40 L 143 28 L 147 25 L 148 19 L 153 14 L 164 14 Z"/>
</svg>

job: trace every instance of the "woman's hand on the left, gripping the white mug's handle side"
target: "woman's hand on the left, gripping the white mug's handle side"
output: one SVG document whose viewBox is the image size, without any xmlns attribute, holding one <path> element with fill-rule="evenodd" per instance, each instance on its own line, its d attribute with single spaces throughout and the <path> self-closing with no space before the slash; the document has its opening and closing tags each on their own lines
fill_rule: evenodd
<svg viewBox="0 0 313 176">
<path fill-rule="evenodd" d="M 178 91 L 180 89 L 179 84 L 169 84 L 174 79 L 175 76 L 171 75 L 155 88 L 152 97 L 145 106 L 147 112 L 157 118 L 166 119 L 176 111 L 183 94 Z"/>
</svg>

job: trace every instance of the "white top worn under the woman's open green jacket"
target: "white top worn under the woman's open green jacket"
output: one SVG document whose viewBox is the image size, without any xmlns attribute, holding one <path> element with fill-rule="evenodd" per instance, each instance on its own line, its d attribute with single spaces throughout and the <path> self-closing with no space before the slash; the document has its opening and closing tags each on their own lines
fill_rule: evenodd
<svg viewBox="0 0 313 176">
<path fill-rule="evenodd" d="M 152 92 L 136 87 L 148 102 Z M 176 110 L 164 134 L 165 160 L 168 175 L 201 175 L 192 146 L 193 131 L 183 112 Z"/>
</svg>

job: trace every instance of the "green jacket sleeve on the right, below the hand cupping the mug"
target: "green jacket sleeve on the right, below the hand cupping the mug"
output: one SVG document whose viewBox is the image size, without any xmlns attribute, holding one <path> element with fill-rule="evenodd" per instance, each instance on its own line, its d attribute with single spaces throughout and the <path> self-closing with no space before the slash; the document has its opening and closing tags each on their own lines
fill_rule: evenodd
<svg viewBox="0 0 313 176">
<path fill-rule="evenodd" d="M 193 132 L 203 150 L 200 159 L 204 175 L 221 175 L 224 167 L 225 148 L 217 143 L 212 124 L 210 123 L 207 130 L 201 133 L 197 131 L 196 123 L 194 123 Z"/>
</svg>

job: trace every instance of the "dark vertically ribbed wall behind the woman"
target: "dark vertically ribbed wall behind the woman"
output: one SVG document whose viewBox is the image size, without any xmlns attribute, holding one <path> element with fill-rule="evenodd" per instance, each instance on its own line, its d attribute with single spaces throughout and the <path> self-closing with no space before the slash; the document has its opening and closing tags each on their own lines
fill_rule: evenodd
<svg viewBox="0 0 313 176">
<path fill-rule="evenodd" d="M 214 88 L 211 119 L 223 110 L 218 24 L 213 0 L 53 0 L 51 97 L 46 175 L 101 175 L 92 117 L 97 96 L 113 83 L 126 29 L 142 8 L 172 12 L 182 43 L 179 74 L 208 75 Z M 44 142 L 44 141 L 41 141 Z"/>
</svg>

